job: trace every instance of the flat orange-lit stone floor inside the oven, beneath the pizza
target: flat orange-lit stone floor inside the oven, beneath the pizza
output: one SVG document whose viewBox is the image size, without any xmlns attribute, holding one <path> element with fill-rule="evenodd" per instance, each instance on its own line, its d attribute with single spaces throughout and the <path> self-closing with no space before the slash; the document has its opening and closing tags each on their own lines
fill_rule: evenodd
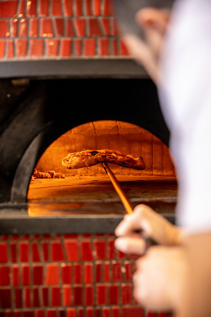
<svg viewBox="0 0 211 317">
<path fill-rule="evenodd" d="M 176 203 L 176 179 L 169 177 L 118 176 L 131 202 L 164 201 Z M 74 176 L 35 179 L 29 184 L 29 203 L 119 202 L 120 198 L 107 176 Z"/>
</svg>

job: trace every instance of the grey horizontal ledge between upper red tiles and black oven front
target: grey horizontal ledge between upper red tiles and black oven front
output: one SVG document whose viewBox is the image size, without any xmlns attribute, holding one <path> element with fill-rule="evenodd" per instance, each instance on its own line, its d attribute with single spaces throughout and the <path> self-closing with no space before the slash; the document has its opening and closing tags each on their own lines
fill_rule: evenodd
<svg viewBox="0 0 211 317">
<path fill-rule="evenodd" d="M 83 58 L 67 60 L 3 61 L 0 78 L 149 78 L 144 68 L 130 58 Z"/>
</svg>

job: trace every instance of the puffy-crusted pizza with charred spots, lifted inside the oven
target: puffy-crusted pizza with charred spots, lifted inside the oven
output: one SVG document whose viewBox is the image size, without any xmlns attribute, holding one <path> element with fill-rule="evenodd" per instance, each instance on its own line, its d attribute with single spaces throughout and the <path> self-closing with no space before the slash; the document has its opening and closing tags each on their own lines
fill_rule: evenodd
<svg viewBox="0 0 211 317">
<path fill-rule="evenodd" d="M 101 162 L 116 164 L 136 170 L 144 170 L 145 164 L 142 157 L 135 158 L 132 155 L 124 155 L 113 150 L 86 150 L 68 154 L 61 164 L 71 169 L 89 167 Z"/>
</svg>

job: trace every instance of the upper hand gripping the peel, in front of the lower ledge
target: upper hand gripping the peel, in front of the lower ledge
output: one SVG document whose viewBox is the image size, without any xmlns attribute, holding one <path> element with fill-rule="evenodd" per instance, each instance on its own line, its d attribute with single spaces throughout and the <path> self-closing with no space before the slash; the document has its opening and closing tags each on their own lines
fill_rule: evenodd
<svg viewBox="0 0 211 317">
<path fill-rule="evenodd" d="M 137 230 L 142 230 L 141 235 L 136 233 Z M 118 237 L 115 240 L 118 250 L 142 255 L 146 249 L 143 237 L 151 237 L 158 244 L 178 245 L 181 230 L 149 206 L 141 204 L 134 208 L 132 214 L 125 215 L 117 226 L 115 235 Z"/>
</svg>

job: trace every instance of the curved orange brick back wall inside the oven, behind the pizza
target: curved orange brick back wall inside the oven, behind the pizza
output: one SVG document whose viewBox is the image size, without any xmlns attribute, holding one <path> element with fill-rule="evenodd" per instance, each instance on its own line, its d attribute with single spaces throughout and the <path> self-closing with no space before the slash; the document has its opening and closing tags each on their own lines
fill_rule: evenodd
<svg viewBox="0 0 211 317">
<path fill-rule="evenodd" d="M 62 134 L 43 153 L 36 169 L 54 170 L 65 176 L 104 176 L 101 164 L 75 170 L 65 169 L 61 165 L 61 160 L 68 153 L 87 149 L 110 149 L 143 157 L 146 165 L 144 171 L 112 164 L 110 167 L 116 175 L 176 176 L 169 149 L 160 139 L 139 126 L 114 120 L 88 122 Z"/>
</svg>

